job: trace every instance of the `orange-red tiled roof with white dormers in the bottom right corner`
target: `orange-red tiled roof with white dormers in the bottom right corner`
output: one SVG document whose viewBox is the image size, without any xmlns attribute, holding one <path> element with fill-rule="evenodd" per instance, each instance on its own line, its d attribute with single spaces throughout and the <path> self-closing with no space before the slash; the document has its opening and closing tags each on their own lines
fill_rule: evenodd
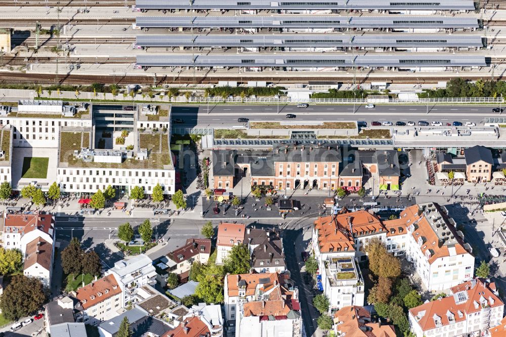
<svg viewBox="0 0 506 337">
<path fill-rule="evenodd" d="M 494 283 L 487 283 L 484 279 L 476 278 L 452 287 L 450 296 L 409 309 L 409 312 L 422 330 L 431 330 L 436 328 L 435 315 L 439 317 L 441 325 L 444 326 L 450 324 L 449 314 L 453 316 L 455 322 L 465 321 L 467 315 L 481 311 L 482 302 L 486 302 L 486 305 L 492 308 L 502 306 L 502 301 L 493 291 L 495 291 Z M 457 303 L 455 299 L 458 299 L 459 296 L 453 294 L 460 292 L 462 292 L 462 296 L 465 296 L 462 301 Z"/>
</svg>

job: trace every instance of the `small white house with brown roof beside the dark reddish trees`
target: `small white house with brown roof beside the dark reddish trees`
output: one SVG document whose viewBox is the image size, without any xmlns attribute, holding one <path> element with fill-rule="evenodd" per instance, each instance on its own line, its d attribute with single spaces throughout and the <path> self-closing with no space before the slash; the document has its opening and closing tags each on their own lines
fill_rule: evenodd
<svg viewBox="0 0 506 337">
<path fill-rule="evenodd" d="M 46 287 L 51 287 L 53 275 L 54 245 L 38 236 L 26 244 L 23 274 L 38 278 Z"/>
</svg>

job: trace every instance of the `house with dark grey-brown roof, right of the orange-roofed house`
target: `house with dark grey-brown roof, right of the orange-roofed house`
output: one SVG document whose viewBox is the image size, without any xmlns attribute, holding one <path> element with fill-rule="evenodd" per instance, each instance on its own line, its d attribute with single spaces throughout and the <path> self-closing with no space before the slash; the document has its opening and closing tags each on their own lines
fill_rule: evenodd
<svg viewBox="0 0 506 337">
<path fill-rule="evenodd" d="M 251 251 L 252 269 L 258 273 L 275 273 L 286 270 L 283 241 L 277 231 L 246 228 L 245 243 Z"/>
</svg>

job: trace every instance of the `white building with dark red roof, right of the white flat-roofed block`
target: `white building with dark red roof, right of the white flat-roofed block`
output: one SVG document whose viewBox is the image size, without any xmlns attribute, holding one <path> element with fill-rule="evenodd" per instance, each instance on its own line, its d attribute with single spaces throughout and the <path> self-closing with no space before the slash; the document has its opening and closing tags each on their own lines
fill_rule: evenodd
<svg viewBox="0 0 506 337">
<path fill-rule="evenodd" d="M 167 254 L 165 264 L 168 271 L 179 277 L 179 282 L 188 282 L 190 268 L 194 262 L 207 263 L 211 254 L 210 239 L 186 239 L 184 246 Z"/>
</svg>

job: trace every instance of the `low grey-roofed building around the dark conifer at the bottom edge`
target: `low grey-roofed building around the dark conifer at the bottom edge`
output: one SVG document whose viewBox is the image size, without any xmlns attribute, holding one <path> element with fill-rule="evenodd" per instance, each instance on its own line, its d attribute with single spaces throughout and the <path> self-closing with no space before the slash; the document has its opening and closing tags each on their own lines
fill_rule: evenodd
<svg viewBox="0 0 506 337">
<path fill-rule="evenodd" d="M 171 327 L 162 320 L 149 316 L 140 308 L 133 308 L 100 324 L 98 328 L 100 337 L 115 337 L 124 317 L 130 322 L 130 328 L 135 331 L 135 336 L 161 337 L 171 330 Z"/>
</svg>

